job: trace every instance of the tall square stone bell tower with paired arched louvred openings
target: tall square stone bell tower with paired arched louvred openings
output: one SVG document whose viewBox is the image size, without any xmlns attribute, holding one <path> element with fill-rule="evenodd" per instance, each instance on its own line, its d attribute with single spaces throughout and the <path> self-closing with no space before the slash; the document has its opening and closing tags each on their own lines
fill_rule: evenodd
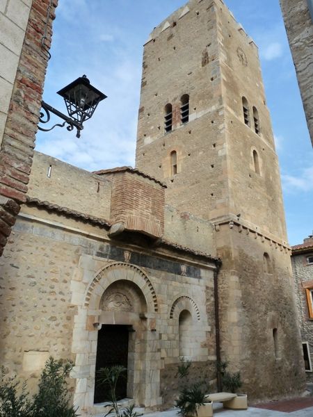
<svg viewBox="0 0 313 417">
<path fill-rule="evenodd" d="M 258 49 L 222 0 L 191 0 L 147 40 L 136 167 L 215 224 L 223 359 L 250 398 L 303 389 L 278 157 Z"/>
</svg>

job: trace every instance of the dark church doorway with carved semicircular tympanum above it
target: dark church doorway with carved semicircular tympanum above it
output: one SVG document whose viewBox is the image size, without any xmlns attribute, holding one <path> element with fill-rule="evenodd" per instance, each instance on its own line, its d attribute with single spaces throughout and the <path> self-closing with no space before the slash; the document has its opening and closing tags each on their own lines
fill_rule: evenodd
<svg viewBox="0 0 313 417">
<path fill-rule="evenodd" d="M 99 370 L 112 366 L 125 368 L 116 385 L 117 399 L 133 398 L 136 361 L 134 332 L 141 332 L 145 328 L 145 323 L 142 322 L 147 311 L 145 297 L 134 282 L 120 279 L 106 288 L 99 308 L 101 328 L 97 336 L 94 402 L 97 404 L 111 399 L 109 386 L 102 384 Z"/>
</svg>

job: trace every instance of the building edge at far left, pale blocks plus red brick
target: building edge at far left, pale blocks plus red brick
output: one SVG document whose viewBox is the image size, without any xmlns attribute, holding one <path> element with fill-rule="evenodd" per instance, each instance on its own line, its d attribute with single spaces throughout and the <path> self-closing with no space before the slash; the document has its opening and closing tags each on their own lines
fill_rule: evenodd
<svg viewBox="0 0 313 417">
<path fill-rule="evenodd" d="M 26 199 L 56 4 L 0 2 L 0 256 Z"/>
</svg>

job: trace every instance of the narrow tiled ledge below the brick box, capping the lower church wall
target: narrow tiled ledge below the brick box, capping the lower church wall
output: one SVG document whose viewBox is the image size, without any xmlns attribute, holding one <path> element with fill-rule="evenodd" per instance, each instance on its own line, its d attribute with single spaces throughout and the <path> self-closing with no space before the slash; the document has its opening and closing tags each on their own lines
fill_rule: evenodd
<svg viewBox="0 0 313 417">
<path fill-rule="evenodd" d="M 63 213 L 64 215 L 68 215 L 74 218 L 79 218 L 82 221 L 90 222 L 93 224 L 98 224 L 99 226 L 105 227 L 106 229 L 109 229 L 111 227 L 111 223 L 108 220 L 104 220 L 102 218 L 97 218 L 93 215 L 88 215 L 85 213 L 81 213 L 76 210 L 72 210 L 70 208 L 59 206 L 58 204 L 52 204 L 47 201 L 42 201 L 38 198 L 33 197 L 26 197 L 26 204 L 29 205 L 35 205 L 35 206 L 41 206 L 45 208 L 47 211 L 55 211 L 57 213 Z M 172 243 L 166 239 L 161 239 L 160 246 L 170 247 L 174 250 L 179 250 L 188 254 L 193 254 L 194 256 L 200 256 L 202 258 L 209 259 L 210 261 L 214 261 L 214 263 L 221 263 L 219 258 L 214 258 L 214 256 L 211 256 L 210 254 L 206 254 L 204 252 L 199 252 L 196 250 L 193 250 L 189 247 L 185 247 L 182 245 L 178 245 L 177 243 Z"/>
</svg>

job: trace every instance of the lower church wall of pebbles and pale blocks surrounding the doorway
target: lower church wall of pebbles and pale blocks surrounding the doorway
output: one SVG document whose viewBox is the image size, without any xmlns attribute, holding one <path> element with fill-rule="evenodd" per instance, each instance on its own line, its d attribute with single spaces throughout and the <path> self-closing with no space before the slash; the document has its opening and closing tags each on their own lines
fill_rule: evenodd
<svg viewBox="0 0 313 417">
<path fill-rule="evenodd" d="M 197 363 L 216 359 L 214 260 L 114 242 L 107 229 L 69 214 L 23 205 L 0 261 L 1 363 L 27 377 L 33 389 L 49 354 L 73 359 L 74 402 L 83 416 L 95 411 L 101 323 L 136 330 L 131 336 L 137 342 L 129 356 L 128 392 L 146 407 L 161 406 L 160 372 L 182 356 L 182 311 L 192 317 L 187 359 Z M 135 285 L 141 294 L 136 302 L 142 303 L 139 311 L 111 310 L 104 294 L 114 295 L 118 282 L 122 285 L 116 291 L 126 291 L 127 297 L 131 294 L 127 288 Z"/>
</svg>

